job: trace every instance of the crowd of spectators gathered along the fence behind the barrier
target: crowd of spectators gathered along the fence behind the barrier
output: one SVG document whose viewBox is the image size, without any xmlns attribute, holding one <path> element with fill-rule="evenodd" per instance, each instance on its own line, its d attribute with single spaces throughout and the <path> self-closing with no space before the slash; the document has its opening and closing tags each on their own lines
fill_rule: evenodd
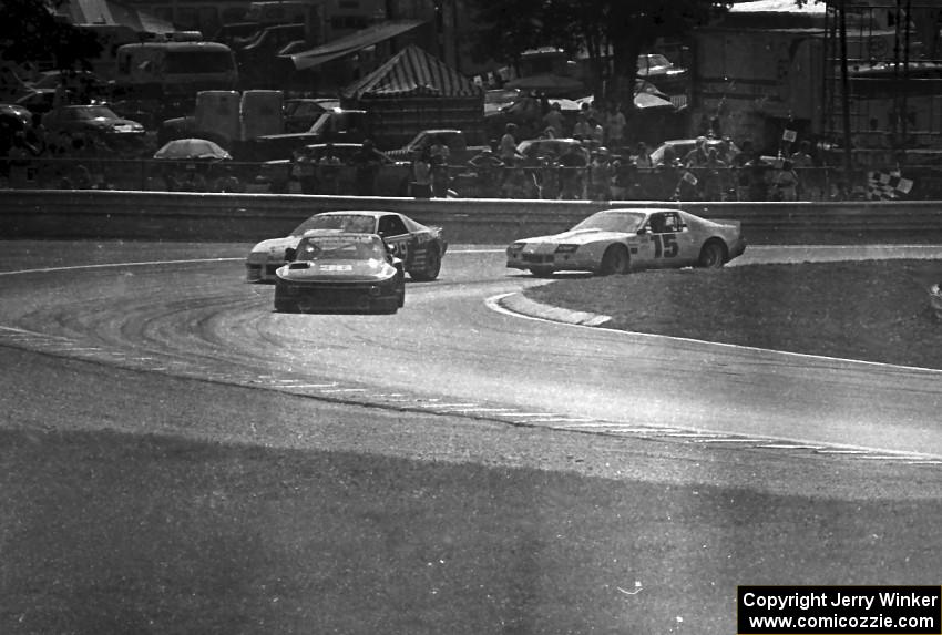
<svg viewBox="0 0 942 635">
<path fill-rule="evenodd" d="M 508 123 L 500 137 L 470 161 L 457 162 L 440 140 L 413 153 L 407 195 L 570 201 L 797 201 L 835 195 L 815 167 L 808 141 L 795 148 L 784 144 L 775 156 L 760 156 L 748 140 L 737 146 L 710 130 L 682 156 L 667 147 L 655 161 L 652 147 L 627 139 L 627 119 L 616 102 L 583 103 L 577 113 L 571 113 L 543 98 L 526 112 L 530 119 L 524 125 Z M 537 131 L 536 139 L 565 137 L 577 143 L 523 156 L 518 146 L 532 130 Z M 122 153 L 98 135 L 50 133 L 39 122 L 0 137 L 8 140 L 7 147 L 0 148 L 7 156 L 0 177 L 10 187 L 115 186 L 113 162 Z M 270 191 L 289 192 L 294 183 L 304 194 L 377 194 L 377 174 L 385 170 L 385 161 L 369 141 L 348 162 L 331 152 L 313 157 L 298 151 L 290 183 L 273 184 Z M 257 175 L 226 164 L 168 164 L 145 172 L 141 188 L 146 190 L 259 191 Z M 352 178 L 344 181 L 352 182 L 352 191 L 341 187 L 345 172 L 352 172 Z"/>
</svg>

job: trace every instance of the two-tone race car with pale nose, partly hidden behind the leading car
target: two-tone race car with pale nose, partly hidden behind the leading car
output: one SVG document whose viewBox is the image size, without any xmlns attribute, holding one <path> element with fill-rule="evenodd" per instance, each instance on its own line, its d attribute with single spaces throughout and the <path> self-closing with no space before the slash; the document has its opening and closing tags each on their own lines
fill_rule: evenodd
<svg viewBox="0 0 942 635">
<path fill-rule="evenodd" d="M 315 214 L 284 238 L 255 245 L 245 260 L 246 281 L 274 283 L 275 272 L 288 262 L 286 249 L 296 249 L 306 235 L 338 232 L 378 234 L 402 260 L 409 277 L 419 281 L 438 277 L 441 258 L 448 249 L 441 227 L 421 225 L 396 212 L 324 212 Z"/>
</svg>

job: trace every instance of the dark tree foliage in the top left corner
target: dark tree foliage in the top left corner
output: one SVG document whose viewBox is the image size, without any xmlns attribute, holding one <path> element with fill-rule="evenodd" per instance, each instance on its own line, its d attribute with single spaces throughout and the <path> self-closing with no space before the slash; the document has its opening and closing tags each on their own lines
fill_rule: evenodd
<svg viewBox="0 0 942 635">
<path fill-rule="evenodd" d="M 101 52 L 101 44 L 94 33 L 54 14 L 53 9 L 62 2 L 0 1 L 0 58 L 17 63 L 51 60 L 59 69 L 88 66 L 88 60 Z"/>
</svg>

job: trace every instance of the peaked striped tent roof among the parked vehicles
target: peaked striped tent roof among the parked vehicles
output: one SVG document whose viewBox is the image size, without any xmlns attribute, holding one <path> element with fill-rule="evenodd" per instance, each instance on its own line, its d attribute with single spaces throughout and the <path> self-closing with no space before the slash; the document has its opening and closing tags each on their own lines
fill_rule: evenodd
<svg viewBox="0 0 942 635">
<path fill-rule="evenodd" d="M 422 49 L 409 45 L 361 80 L 344 89 L 346 99 L 397 96 L 480 96 L 481 86 Z"/>
</svg>

